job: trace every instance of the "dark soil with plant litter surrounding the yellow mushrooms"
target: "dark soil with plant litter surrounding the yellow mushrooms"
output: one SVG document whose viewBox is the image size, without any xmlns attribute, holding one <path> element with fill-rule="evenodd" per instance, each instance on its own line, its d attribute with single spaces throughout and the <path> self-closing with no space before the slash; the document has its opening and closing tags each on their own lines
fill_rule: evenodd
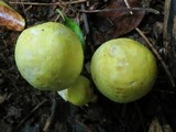
<svg viewBox="0 0 176 132">
<path fill-rule="evenodd" d="M 11 1 L 22 2 L 21 0 Z M 40 4 L 55 3 L 58 2 L 57 0 L 25 0 L 29 4 L 10 3 L 8 0 L 7 2 L 24 16 L 26 28 L 47 21 L 61 22 L 55 9 L 64 6 Z M 33 2 L 37 2 L 37 4 L 33 6 Z M 143 0 L 142 4 L 146 4 L 146 2 L 148 4 L 147 0 Z M 86 9 L 92 7 L 99 9 L 106 3 L 106 0 L 91 0 Z M 170 61 L 167 61 L 160 52 L 163 50 L 163 32 L 158 25 L 163 25 L 164 22 L 164 0 L 152 0 L 148 7 L 161 13 L 146 13 L 138 28 L 155 44 L 154 48 L 169 66 Z M 90 58 L 95 50 L 108 38 L 103 37 L 105 32 L 100 32 L 100 25 L 95 24 L 95 13 L 86 14 L 89 23 L 89 29 L 86 30 L 87 25 L 82 23 L 81 19 L 78 19 L 82 14 L 72 10 L 73 8 L 80 9 L 80 3 L 68 6 L 69 10 L 66 14 L 76 19 L 86 34 L 87 45 L 82 74 L 91 79 L 90 73 L 87 70 Z M 63 8 L 64 11 L 66 11 L 65 9 Z M 176 131 L 176 90 L 157 57 L 158 76 L 152 91 L 145 97 L 130 103 L 116 103 L 103 97 L 94 86 L 98 95 L 97 102 L 76 107 L 65 102 L 56 92 L 33 88 L 22 78 L 14 62 L 14 47 L 20 33 L 3 26 L 0 28 L 0 132 Z M 99 37 L 96 37 L 97 34 Z M 147 46 L 147 43 L 135 30 L 121 36 L 133 37 Z"/>
</svg>

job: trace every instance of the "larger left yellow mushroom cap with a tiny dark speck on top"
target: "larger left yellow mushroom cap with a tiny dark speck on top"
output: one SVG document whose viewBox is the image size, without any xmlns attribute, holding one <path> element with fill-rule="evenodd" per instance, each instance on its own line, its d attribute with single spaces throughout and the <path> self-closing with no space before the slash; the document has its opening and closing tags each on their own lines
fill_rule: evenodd
<svg viewBox="0 0 176 132">
<path fill-rule="evenodd" d="M 46 22 L 24 30 L 15 45 L 15 63 L 33 87 L 62 90 L 74 84 L 82 69 L 78 37 L 61 23 Z"/>
</svg>

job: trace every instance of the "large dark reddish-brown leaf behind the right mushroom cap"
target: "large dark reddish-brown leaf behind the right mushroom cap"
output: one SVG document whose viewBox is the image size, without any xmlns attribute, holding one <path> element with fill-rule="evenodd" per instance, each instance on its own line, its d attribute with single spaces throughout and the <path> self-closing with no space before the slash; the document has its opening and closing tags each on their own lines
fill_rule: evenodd
<svg viewBox="0 0 176 132">
<path fill-rule="evenodd" d="M 141 0 L 128 0 L 131 8 L 140 8 Z M 106 9 L 121 9 L 127 8 L 124 0 L 110 0 L 110 3 Z M 118 37 L 132 30 L 134 30 L 144 18 L 144 11 L 109 11 L 99 13 L 100 16 L 108 18 L 114 24 L 114 30 L 111 32 L 111 36 Z"/>
</svg>

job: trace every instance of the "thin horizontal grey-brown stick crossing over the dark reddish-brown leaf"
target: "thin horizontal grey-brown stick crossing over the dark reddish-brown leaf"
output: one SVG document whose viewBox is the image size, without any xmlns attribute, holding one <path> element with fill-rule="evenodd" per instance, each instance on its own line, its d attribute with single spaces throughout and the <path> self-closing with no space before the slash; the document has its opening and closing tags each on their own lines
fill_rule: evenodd
<svg viewBox="0 0 176 132">
<path fill-rule="evenodd" d="M 79 10 L 79 12 L 84 13 L 100 13 L 100 12 L 112 12 L 112 11 L 145 11 L 145 12 L 151 12 L 155 14 L 160 14 L 160 12 L 155 9 L 151 8 L 120 8 L 120 9 L 102 9 L 102 10 Z"/>
</svg>

